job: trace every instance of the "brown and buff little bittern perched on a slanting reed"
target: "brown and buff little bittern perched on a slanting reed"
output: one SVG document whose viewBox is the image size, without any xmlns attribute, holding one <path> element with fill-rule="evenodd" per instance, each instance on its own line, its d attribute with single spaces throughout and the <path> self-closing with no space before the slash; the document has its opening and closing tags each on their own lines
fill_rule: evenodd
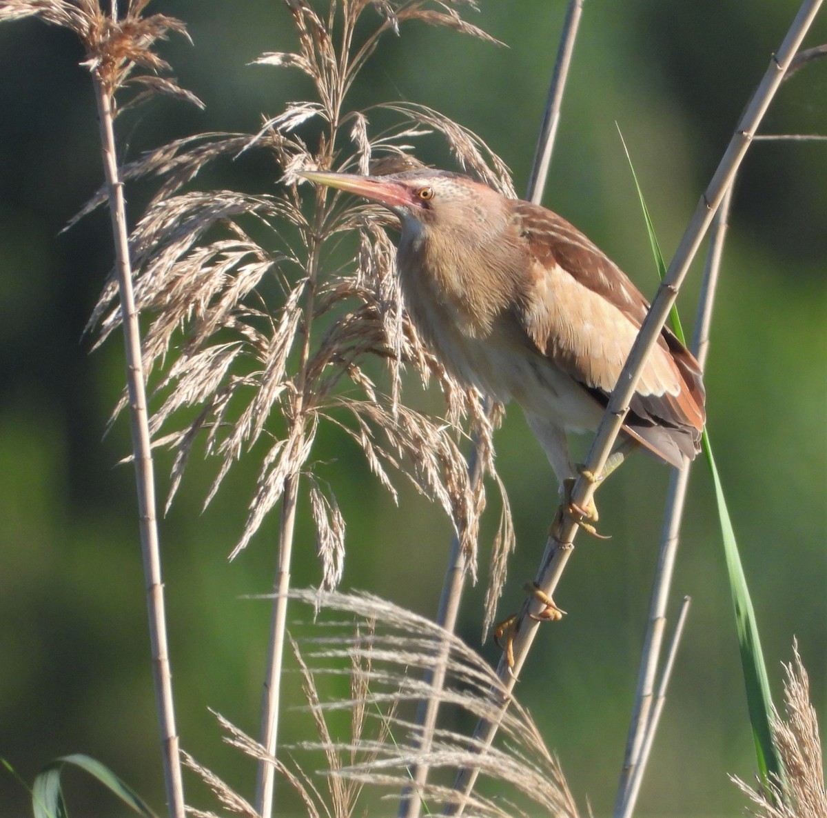
<svg viewBox="0 0 827 818">
<path fill-rule="evenodd" d="M 433 354 L 466 385 L 523 407 L 563 481 L 567 431 L 593 431 L 648 310 L 632 281 L 566 219 L 467 176 L 306 171 L 399 216 L 404 303 Z M 623 435 L 680 468 L 699 451 L 704 387 L 662 330 Z"/>
</svg>

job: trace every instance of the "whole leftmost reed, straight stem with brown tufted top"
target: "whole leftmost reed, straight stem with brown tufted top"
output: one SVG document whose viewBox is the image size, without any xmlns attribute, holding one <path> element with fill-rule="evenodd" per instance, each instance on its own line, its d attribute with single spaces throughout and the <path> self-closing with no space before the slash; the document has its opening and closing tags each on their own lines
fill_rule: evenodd
<svg viewBox="0 0 827 818">
<path fill-rule="evenodd" d="M 105 182 L 97 203 L 108 201 L 115 248 L 114 281 L 107 291 L 112 314 L 122 323 L 127 360 L 127 397 L 132 456 L 135 464 L 141 555 L 146 585 L 146 607 L 152 653 L 152 676 L 161 738 L 167 804 L 171 818 L 184 818 L 184 787 L 181 781 L 179 739 L 175 729 L 174 700 L 167 646 L 164 585 L 160 567 L 160 537 L 155 508 L 155 472 L 151 453 L 151 428 L 146 402 L 145 349 L 138 325 L 138 306 L 133 290 L 133 256 L 127 236 L 127 208 L 123 194 L 124 174 L 117 163 L 114 121 L 128 105 L 149 99 L 155 93 L 171 94 L 202 105 L 194 94 L 179 88 L 174 80 L 161 76 L 168 69 L 165 60 L 152 51 L 170 31 L 186 36 L 184 24 L 163 14 L 144 16 L 146 2 L 129 2 L 121 16 L 117 2 L 110 13 L 93 0 L 6 0 L 0 2 L 0 22 L 37 17 L 50 25 L 73 31 L 83 43 L 92 75 L 98 107 L 98 128 L 103 154 Z M 136 91 L 127 106 L 118 108 L 116 94 L 131 86 Z"/>
</svg>

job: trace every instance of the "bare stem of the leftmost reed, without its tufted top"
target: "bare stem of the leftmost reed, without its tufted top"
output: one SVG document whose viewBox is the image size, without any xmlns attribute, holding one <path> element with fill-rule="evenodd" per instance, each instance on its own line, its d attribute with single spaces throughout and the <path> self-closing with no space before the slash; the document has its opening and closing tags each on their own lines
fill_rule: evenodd
<svg viewBox="0 0 827 818">
<path fill-rule="evenodd" d="M 132 291 L 132 273 L 127 236 L 127 209 L 123 196 L 123 182 L 117 166 L 115 129 L 112 116 L 112 98 L 106 85 L 93 73 L 95 98 L 98 103 L 98 124 L 103 169 L 108 186 L 109 214 L 112 219 L 112 238 L 115 243 L 115 269 L 121 300 L 121 315 L 127 358 L 127 391 L 129 419 L 132 433 L 132 451 L 135 457 L 135 479 L 138 496 L 138 519 L 141 527 L 141 554 L 146 580 L 146 608 L 149 618 L 152 651 L 152 676 L 155 681 L 155 701 L 158 707 L 161 755 L 167 804 L 172 818 L 184 818 L 184 785 L 181 780 L 179 740 L 175 730 L 174 699 L 170 656 L 166 637 L 164 585 L 160 569 L 160 538 L 155 512 L 155 471 L 146 411 L 146 384 L 141 358 L 141 334 L 135 296 Z"/>
</svg>

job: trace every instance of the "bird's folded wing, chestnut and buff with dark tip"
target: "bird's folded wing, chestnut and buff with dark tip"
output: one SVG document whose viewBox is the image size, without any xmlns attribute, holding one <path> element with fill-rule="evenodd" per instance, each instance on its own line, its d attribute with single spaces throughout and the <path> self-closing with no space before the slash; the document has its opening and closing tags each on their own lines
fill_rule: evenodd
<svg viewBox="0 0 827 818">
<path fill-rule="evenodd" d="M 517 317 L 533 344 L 605 406 L 648 302 L 623 271 L 566 219 L 514 203 L 527 248 L 528 293 Z M 643 369 L 624 429 L 653 454 L 681 465 L 700 445 L 705 421 L 700 367 L 667 329 Z"/>
</svg>

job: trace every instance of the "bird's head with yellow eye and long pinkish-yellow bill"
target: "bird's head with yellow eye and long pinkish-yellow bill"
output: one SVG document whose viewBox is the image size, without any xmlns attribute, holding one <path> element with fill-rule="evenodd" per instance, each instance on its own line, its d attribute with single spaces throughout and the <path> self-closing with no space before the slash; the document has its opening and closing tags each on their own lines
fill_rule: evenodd
<svg viewBox="0 0 827 818">
<path fill-rule="evenodd" d="M 480 243 L 495 238 L 509 218 L 503 195 L 450 171 L 418 168 L 389 176 L 304 171 L 299 176 L 385 205 L 399 216 L 403 243 L 447 234 L 460 244 Z"/>
</svg>

